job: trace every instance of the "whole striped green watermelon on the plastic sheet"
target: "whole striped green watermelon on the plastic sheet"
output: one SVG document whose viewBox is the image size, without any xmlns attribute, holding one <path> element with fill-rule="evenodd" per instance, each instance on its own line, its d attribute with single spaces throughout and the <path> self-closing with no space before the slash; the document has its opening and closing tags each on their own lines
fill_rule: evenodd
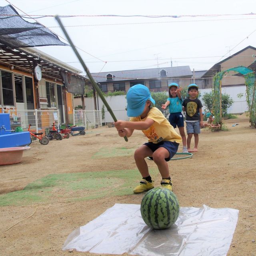
<svg viewBox="0 0 256 256">
<path fill-rule="evenodd" d="M 170 228 L 179 216 L 176 195 L 166 188 L 153 188 L 146 192 L 140 204 L 144 222 L 154 229 Z"/>
</svg>

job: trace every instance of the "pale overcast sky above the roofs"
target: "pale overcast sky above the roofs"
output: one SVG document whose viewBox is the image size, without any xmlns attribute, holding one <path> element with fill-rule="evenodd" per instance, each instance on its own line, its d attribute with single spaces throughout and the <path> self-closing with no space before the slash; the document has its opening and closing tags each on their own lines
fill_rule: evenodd
<svg viewBox="0 0 256 256">
<path fill-rule="evenodd" d="M 191 70 L 207 70 L 248 45 L 256 47 L 255 0 L 8 2 L 19 14 L 29 14 L 50 28 L 63 42 L 66 42 L 66 38 L 55 18 L 38 17 L 56 14 L 84 15 L 61 20 L 73 43 L 80 48 L 79 53 L 90 72 L 187 65 Z M 0 6 L 6 6 L 8 2 L 0 0 Z M 93 17 L 85 17 L 86 15 Z M 128 15 L 133 17 L 120 17 Z M 134 15 L 178 17 L 150 18 Z M 29 21 L 34 22 L 32 19 Z M 84 72 L 70 46 L 37 48 Z"/>
</svg>

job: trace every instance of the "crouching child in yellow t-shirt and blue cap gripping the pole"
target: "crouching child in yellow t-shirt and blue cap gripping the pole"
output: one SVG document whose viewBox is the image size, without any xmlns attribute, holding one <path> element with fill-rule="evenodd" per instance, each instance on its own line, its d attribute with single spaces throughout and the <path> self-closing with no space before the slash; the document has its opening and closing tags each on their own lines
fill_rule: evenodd
<svg viewBox="0 0 256 256">
<path fill-rule="evenodd" d="M 181 143 L 180 135 L 170 125 L 162 112 L 154 107 L 155 101 L 143 84 L 132 86 L 126 95 L 127 115 L 130 121 L 118 120 L 115 127 L 121 137 L 130 137 L 134 130 L 142 130 L 148 137 L 134 152 L 136 166 L 142 180 L 133 190 L 134 193 L 146 192 L 154 188 L 154 182 L 148 171 L 146 157 L 152 157 L 162 176 L 161 186 L 172 191 L 169 166 L 167 162 L 176 154 Z"/>
</svg>

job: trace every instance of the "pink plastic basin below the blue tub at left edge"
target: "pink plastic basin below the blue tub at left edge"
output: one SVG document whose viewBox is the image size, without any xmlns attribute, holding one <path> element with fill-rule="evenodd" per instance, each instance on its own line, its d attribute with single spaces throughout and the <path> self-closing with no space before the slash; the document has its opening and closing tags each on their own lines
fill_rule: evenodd
<svg viewBox="0 0 256 256">
<path fill-rule="evenodd" d="M 30 149 L 30 147 L 0 148 L 0 165 L 21 162 L 23 151 L 26 149 Z"/>
</svg>

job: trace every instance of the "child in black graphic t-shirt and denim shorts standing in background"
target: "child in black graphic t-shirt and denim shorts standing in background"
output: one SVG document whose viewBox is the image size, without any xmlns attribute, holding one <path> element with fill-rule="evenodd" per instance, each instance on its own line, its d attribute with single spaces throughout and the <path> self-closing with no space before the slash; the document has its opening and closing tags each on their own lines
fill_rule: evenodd
<svg viewBox="0 0 256 256">
<path fill-rule="evenodd" d="M 186 130 L 188 134 L 187 138 L 187 147 L 188 152 L 198 151 L 198 141 L 200 134 L 200 127 L 203 126 L 203 113 L 202 113 L 202 102 L 197 98 L 198 97 L 198 85 L 190 84 L 188 86 L 188 95 L 189 98 L 186 98 L 182 106 L 186 111 Z M 190 147 L 191 139 L 194 134 L 195 144 L 194 149 Z"/>
</svg>

